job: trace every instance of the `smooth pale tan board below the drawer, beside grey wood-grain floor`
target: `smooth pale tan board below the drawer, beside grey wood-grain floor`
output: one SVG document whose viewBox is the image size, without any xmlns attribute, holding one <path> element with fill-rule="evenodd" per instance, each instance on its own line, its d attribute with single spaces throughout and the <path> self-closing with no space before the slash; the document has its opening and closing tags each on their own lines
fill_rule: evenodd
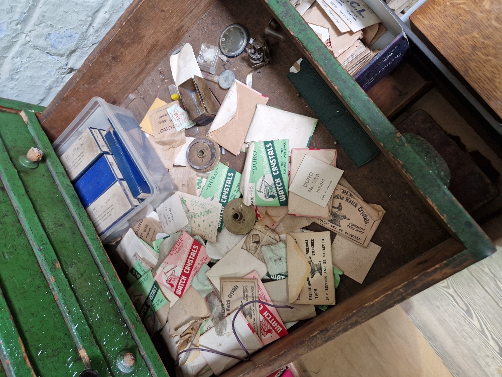
<svg viewBox="0 0 502 377">
<path fill-rule="evenodd" d="M 451 377 L 399 305 L 307 353 L 301 361 L 315 377 Z"/>
</svg>

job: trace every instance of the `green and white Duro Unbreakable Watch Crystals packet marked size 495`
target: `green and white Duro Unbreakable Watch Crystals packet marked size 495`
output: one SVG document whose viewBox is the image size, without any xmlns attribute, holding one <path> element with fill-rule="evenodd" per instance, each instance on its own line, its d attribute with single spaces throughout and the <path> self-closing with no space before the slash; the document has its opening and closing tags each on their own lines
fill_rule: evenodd
<svg viewBox="0 0 502 377">
<path fill-rule="evenodd" d="M 247 150 L 242 201 L 250 206 L 288 205 L 288 140 L 258 141 Z"/>
</svg>

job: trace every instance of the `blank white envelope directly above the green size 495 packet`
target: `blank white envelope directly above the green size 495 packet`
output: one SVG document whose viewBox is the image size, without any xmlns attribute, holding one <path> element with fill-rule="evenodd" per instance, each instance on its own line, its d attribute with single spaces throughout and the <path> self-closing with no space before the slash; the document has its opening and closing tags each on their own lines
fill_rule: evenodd
<svg viewBox="0 0 502 377">
<path fill-rule="evenodd" d="M 288 139 L 291 153 L 292 148 L 308 147 L 316 125 L 315 118 L 258 104 L 244 141 Z"/>
</svg>

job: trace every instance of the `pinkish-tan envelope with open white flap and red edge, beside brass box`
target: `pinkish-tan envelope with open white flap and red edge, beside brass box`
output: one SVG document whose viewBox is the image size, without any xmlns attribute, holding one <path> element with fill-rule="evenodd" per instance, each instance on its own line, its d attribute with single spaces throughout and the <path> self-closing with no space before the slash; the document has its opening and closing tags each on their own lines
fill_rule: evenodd
<svg viewBox="0 0 502 377">
<path fill-rule="evenodd" d="M 235 80 L 207 135 L 230 153 L 239 154 L 257 104 L 265 105 L 268 100 L 262 93 Z"/>
</svg>

